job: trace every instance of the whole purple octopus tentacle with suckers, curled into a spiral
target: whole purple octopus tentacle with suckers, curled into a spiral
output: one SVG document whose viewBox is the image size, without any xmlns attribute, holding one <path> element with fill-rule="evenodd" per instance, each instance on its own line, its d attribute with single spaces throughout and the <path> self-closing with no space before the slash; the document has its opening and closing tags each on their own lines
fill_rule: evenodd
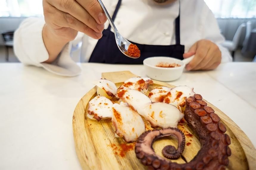
<svg viewBox="0 0 256 170">
<path fill-rule="evenodd" d="M 202 96 L 195 94 L 193 97 L 186 99 L 186 109 L 184 118 L 188 125 L 194 129 L 199 136 L 201 149 L 197 155 L 188 163 L 178 164 L 168 161 L 154 152 L 152 144 L 157 137 L 173 135 L 182 139 L 179 141 L 178 149 L 173 146 L 166 146 L 162 150 L 166 158 L 176 158 L 176 152 L 182 153 L 182 146 L 185 138 L 177 128 L 167 128 L 163 130 L 155 129 L 143 133 L 136 145 L 135 152 L 138 159 L 149 169 L 225 169 L 228 165 L 228 156 L 231 155 L 230 137 L 225 134 L 227 131 L 225 125 L 220 122 L 220 118 L 214 110 L 207 106 L 202 100 Z M 183 134 L 184 135 L 184 134 Z M 167 153 L 167 154 L 166 154 Z"/>
</svg>

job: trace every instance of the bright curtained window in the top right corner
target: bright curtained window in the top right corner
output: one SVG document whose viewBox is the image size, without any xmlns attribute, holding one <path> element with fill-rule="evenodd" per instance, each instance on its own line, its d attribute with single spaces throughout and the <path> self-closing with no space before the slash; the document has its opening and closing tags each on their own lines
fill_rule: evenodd
<svg viewBox="0 0 256 170">
<path fill-rule="evenodd" d="M 256 0 L 205 0 L 216 18 L 255 18 Z"/>
</svg>

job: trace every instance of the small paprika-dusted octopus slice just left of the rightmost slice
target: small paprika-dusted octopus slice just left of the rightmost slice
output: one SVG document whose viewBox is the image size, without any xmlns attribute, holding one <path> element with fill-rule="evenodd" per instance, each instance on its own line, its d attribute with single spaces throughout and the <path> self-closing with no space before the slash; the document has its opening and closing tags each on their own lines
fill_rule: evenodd
<svg viewBox="0 0 256 170">
<path fill-rule="evenodd" d="M 149 93 L 149 98 L 152 102 L 163 102 L 167 93 L 170 92 L 171 88 L 168 87 L 157 87 L 151 90 Z"/>
</svg>

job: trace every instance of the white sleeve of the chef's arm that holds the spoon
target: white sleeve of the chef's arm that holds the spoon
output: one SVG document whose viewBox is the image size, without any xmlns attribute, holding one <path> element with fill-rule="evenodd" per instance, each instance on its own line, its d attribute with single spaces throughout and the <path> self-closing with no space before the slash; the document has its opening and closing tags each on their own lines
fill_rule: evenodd
<svg viewBox="0 0 256 170">
<path fill-rule="evenodd" d="M 43 18 L 27 18 L 14 33 L 14 53 L 17 58 L 25 65 L 34 65 L 43 67 L 46 70 L 62 75 L 62 76 L 77 76 L 81 69 L 71 59 L 71 49 L 77 48 L 77 44 L 82 41 L 82 35 L 78 34 L 77 38 L 66 44 L 57 57 L 51 63 L 43 63 L 49 58 L 48 51 L 43 42 L 43 26 L 45 21 Z"/>
</svg>

